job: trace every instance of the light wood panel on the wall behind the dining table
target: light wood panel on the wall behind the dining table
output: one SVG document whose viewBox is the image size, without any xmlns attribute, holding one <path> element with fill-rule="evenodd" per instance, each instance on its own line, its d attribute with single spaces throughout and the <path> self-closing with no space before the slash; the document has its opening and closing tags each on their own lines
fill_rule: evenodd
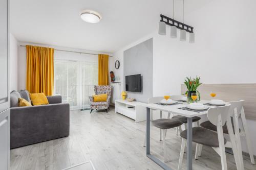
<svg viewBox="0 0 256 170">
<path fill-rule="evenodd" d="M 202 100 L 212 99 L 210 92 L 215 92 L 215 99 L 225 102 L 245 100 L 244 111 L 247 119 L 256 120 L 256 84 L 202 84 L 198 88 Z M 186 91 L 181 84 L 181 93 Z"/>
</svg>

